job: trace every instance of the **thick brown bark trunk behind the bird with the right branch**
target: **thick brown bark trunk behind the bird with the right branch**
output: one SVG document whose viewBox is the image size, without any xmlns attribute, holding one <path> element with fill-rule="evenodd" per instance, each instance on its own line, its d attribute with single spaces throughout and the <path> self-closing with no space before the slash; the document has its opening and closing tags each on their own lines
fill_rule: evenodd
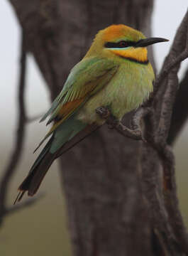
<svg viewBox="0 0 188 256">
<path fill-rule="evenodd" d="M 23 28 L 24 49 L 38 63 L 51 100 L 101 28 L 125 23 L 151 35 L 153 0 L 10 2 Z M 188 255 L 174 156 L 166 144 L 177 71 L 187 58 L 187 23 L 188 14 L 157 76 L 153 97 L 125 117 L 127 126 L 133 119 L 131 128 L 142 130 L 147 142 L 105 125 L 60 160 L 74 255 Z M 150 60 L 155 65 L 151 48 Z M 2 208 L 5 203 L 0 213 Z"/>
</svg>

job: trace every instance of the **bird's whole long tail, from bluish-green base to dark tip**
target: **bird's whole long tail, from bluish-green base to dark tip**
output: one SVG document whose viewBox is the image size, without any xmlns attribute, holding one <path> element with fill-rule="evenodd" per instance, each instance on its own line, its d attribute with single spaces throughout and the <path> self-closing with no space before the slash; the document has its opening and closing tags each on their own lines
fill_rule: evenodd
<svg viewBox="0 0 188 256">
<path fill-rule="evenodd" d="M 75 132 L 70 133 L 70 131 L 67 129 L 67 131 L 63 131 L 64 137 L 58 137 L 58 134 L 52 135 L 44 149 L 39 154 L 38 158 L 35 160 L 31 170 L 28 173 L 28 176 L 26 176 L 19 186 L 19 193 L 14 201 L 14 204 L 21 201 L 21 198 L 26 191 L 28 191 L 28 196 L 33 196 L 38 191 L 40 183 L 43 181 L 43 178 L 52 165 L 52 162 L 61 154 L 71 149 L 72 146 L 82 141 L 82 139 L 99 128 L 99 125 L 97 124 L 88 124 L 86 127 L 77 122 L 74 122 L 73 124 L 74 125 L 72 125 L 72 127 L 74 127 L 74 129 L 77 128 L 75 129 Z"/>
</svg>

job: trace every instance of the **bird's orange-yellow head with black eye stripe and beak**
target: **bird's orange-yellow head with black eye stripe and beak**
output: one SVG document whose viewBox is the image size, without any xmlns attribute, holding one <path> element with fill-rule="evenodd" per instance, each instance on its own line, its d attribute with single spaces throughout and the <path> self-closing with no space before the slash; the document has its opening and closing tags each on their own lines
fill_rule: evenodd
<svg viewBox="0 0 188 256">
<path fill-rule="evenodd" d="M 168 41 L 165 38 L 145 38 L 143 33 L 131 27 L 111 25 L 96 34 L 86 56 L 101 55 L 107 58 L 125 58 L 138 63 L 148 63 L 146 46 Z"/>
</svg>

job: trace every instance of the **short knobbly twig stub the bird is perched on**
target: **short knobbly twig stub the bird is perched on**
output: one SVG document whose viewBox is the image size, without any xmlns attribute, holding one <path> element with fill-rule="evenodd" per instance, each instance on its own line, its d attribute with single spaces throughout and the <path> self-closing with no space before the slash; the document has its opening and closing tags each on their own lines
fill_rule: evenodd
<svg viewBox="0 0 188 256">
<path fill-rule="evenodd" d="M 143 138 L 140 129 L 140 120 L 138 119 L 138 117 L 133 119 L 133 129 L 129 129 L 121 122 L 119 122 L 116 117 L 113 116 L 113 114 L 111 114 L 108 107 L 98 107 L 96 109 L 96 113 L 99 114 L 102 119 L 106 119 L 106 124 L 109 125 L 109 129 L 116 129 L 116 131 L 124 137 L 129 137 L 136 140 L 143 140 L 143 142 L 145 142 L 145 139 Z"/>
</svg>

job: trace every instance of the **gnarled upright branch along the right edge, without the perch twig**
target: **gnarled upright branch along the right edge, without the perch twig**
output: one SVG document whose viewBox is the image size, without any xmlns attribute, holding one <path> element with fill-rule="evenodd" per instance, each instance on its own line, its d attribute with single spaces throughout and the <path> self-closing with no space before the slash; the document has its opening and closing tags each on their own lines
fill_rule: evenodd
<svg viewBox="0 0 188 256">
<path fill-rule="evenodd" d="M 187 24 L 188 24 L 188 12 L 184 16 L 182 23 L 180 24 L 175 41 L 172 44 L 169 55 L 165 59 L 163 68 L 155 82 L 155 92 L 153 97 L 153 114 L 148 115 L 148 119 L 145 120 L 145 130 L 147 131 L 145 139 L 152 144 L 153 149 L 157 149 L 157 154 L 162 160 L 162 172 L 163 172 L 163 195 L 164 195 L 164 217 L 167 214 L 168 225 L 173 230 L 175 241 L 182 251 L 188 253 L 188 236 L 187 230 L 184 226 L 181 213 L 179 211 L 177 191 L 175 184 L 175 161 L 171 149 L 167 146 L 167 134 L 170 129 L 170 119 L 172 113 L 172 107 L 175 100 L 175 95 L 178 88 L 177 72 L 179 70 L 179 63 L 184 58 L 187 58 L 188 46 L 187 46 Z M 154 114 L 155 113 L 155 114 Z M 152 124 L 153 129 L 150 129 Z M 150 144 L 145 146 L 148 148 Z M 152 166 L 153 151 L 147 149 L 147 156 L 150 157 Z M 154 167 L 155 169 L 156 167 Z M 162 198 L 161 198 L 162 199 Z M 157 203 L 157 200 L 155 201 Z M 158 201 L 160 206 L 161 202 Z M 153 213 L 155 215 L 155 213 Z M 159 217 L 159 216 L 158 216 Z M 156 218 L 161 222 L 160 218 Z M 165 220 L 165 219 L 164 219 Z M 164 223 L 164 221 L 163 221 Z M 161 225 L 162 226 L 162 225 Z M 160 233 L 163 230 L 160 230 Z M 164 234 L 164 233 L 163 233 Z M 169 235 L 166 234 L 166 238 Z M 172 245 L 172 242 L 170 242 Z M 173 245 L 174 246 L 174 245 Z M 173 250 L 172 246 L 172 250 Z"/>
</svg>

